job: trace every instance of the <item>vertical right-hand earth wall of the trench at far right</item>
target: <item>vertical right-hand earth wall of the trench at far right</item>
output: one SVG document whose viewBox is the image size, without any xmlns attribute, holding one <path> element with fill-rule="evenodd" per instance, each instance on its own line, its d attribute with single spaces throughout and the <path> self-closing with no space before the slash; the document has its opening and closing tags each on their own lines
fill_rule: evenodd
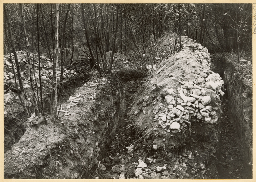
<svg viewBox="0 0 256 182">
<path fill-rule="evenodd" d="M 226 61 L 224 81 L 227 85 L 229 118 L 239 137 L 243 165 L 252 175 L 252 83 L 246 81 L 245 78 L 251 77 L 250 73 L 246 74 L 237 62 Z"/>
</svg>

